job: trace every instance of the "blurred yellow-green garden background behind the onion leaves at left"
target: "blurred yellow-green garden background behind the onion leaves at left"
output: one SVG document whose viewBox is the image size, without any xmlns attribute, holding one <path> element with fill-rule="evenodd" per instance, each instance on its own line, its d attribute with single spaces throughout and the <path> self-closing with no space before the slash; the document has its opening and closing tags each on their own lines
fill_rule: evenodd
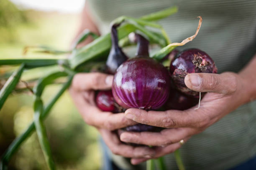
<svg viewBox="0 0 256 170">
<path fill-rule="evenodd" d="M 20 10 L 9 0 L 0 0 L 0 57 L 38 57 L 33 53 L 23 56 L 26 45 L 49 45 L 67 50 L 79 27 L 79 14 Z M 41 55 L 44 57 L 44 55 Z M 0 87 L 3 76 L 13 67 L 0 67 Z M 24 72 L 21 80 L 45 75 L 51 68 Z M 59 85 L 46 87 L 43 100 L 49 100 Z M 33 119 L 33 97 L 29 92 L 13 93 L 0 111 L 0 155 L 23 132 Z M 47 134 L 57 169 L 97 170 L 101 166 L 98 133 L 84 123 L 68 92 L 57 101 L 45 120 Z M 12 158 L 11 170 L 47 169 L 35 133 L 26 140 Z"/>
</svg>

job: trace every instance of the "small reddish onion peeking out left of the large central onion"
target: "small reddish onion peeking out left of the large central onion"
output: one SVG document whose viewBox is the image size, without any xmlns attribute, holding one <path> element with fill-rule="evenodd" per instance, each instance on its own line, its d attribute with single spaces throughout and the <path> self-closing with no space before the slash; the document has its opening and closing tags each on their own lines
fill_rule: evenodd
<svg viewBox="0 0 256 170">
<path fill-rule="evenodd" d="M 105 112 L 117 112 L 115 100 L 111 90 L 100 91 L 96 96 L 96 105 Z"/>
</svg>

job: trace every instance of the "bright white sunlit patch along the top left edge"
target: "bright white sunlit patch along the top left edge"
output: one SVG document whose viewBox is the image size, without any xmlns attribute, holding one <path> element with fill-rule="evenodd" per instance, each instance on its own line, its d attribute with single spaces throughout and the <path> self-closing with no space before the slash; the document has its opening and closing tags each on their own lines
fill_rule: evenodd
<svg viewBox="0 0 256 170">
<path fill-rule="evenodd" d="M 58 11 L 64 13 L 80 13 L 85 0 L 10 0 L 21 8 Z"/>
</svg>

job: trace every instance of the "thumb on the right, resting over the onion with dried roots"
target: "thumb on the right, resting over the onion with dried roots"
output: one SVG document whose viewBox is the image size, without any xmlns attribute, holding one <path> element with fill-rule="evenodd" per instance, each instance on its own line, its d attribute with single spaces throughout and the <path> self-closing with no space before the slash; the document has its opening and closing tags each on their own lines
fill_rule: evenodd
<svg viewBox="0 0 256 170">
<path fill-rule="evenodd" d="M 222 74 L 192 73 L 186 75 L 185 85 L 197 92 L 217 92 L 230 94 L 236 91 L 237 75 L 232 72 Z"/>
</svg>

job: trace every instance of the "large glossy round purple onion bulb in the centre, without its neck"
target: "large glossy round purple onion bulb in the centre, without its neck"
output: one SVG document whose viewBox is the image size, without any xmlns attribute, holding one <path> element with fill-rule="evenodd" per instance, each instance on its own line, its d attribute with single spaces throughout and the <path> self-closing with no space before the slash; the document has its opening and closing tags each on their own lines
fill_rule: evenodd
<svg viewBox="0 0 256 170">
<path fill-rule="evenodd" d="M 118 67 L 112 85 L 115 101 L 124 108 L 154 110 L 169 96 L 167 69 L 149 57 L 133 58 Z"/>
</svg>

